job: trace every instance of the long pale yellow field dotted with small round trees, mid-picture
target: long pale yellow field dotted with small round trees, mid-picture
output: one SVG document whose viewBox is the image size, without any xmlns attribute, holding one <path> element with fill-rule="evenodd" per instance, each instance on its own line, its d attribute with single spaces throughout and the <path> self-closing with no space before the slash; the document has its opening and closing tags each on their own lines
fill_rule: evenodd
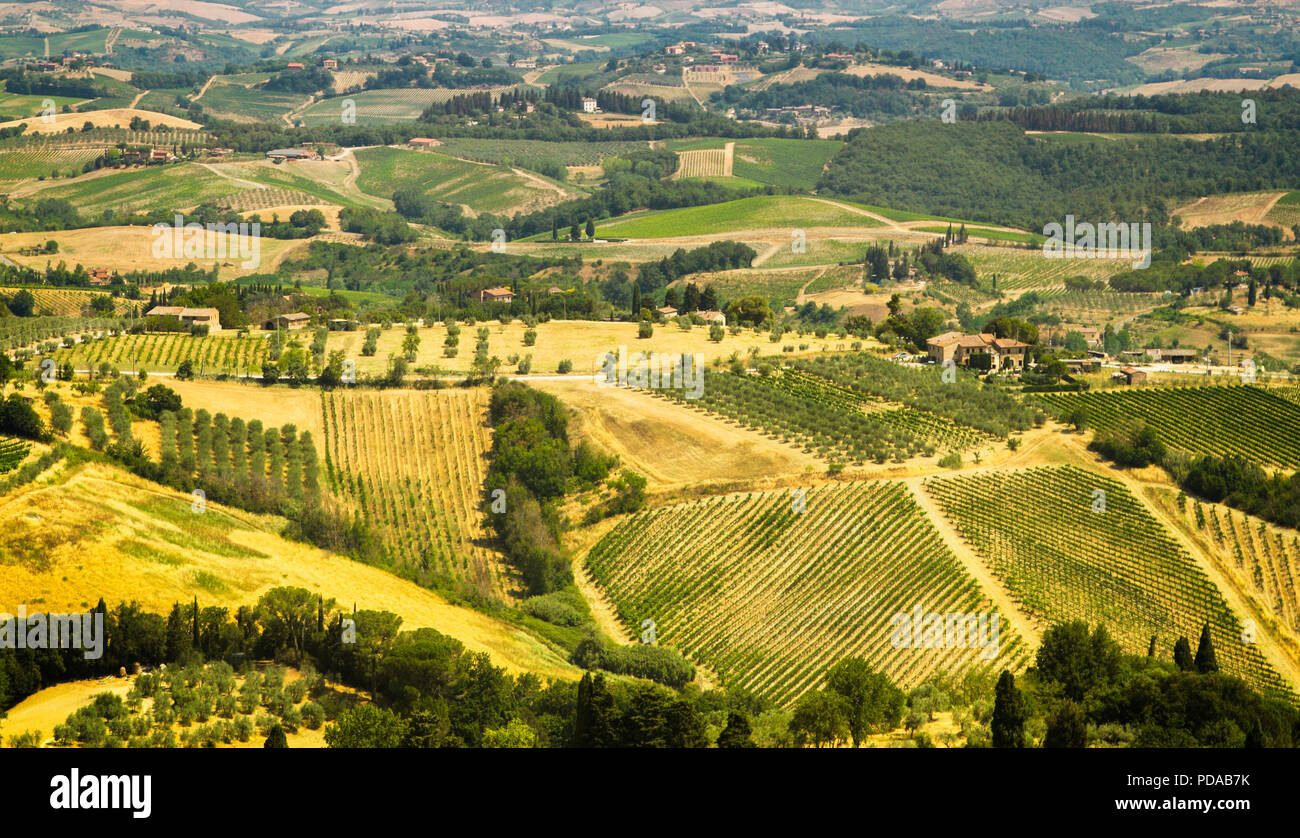
<svg viewBox="0 0 1300 838">
<path fill-rule="evenodd" d="M 416 353 L 415 366 L 432 365 L 447 373 L 469 372 L 474 359 L 477 330 L 484 326 L 490 330 L 489 355 L 495 355 L 502 360 L 502 368 L 498 370 L 502 374 L 515 372 L 515 368 L 508 364 L 511 355 L 519 355 L 520 359 L 532 355 L 534 375 L 554 375 L 559 362 L 569 360 L 573 362 L 575 375 L 590 377 L 599 369 L 597 356 L 604 352 L 616 352 L 620 346 L 627 347 L 629 356 L 642 351 L 699 353 L 706 364 L 714 360 L 725 360 L 731 357 L 732 352 L 740 352 L 744 356 L 751 347 L 771 353 L 779 352 L 781 346 L 771 343 L 767 333 L 755 334 L 751 329 L 745 329 L 738 335 L 732 335 L 728 331 L 722 343 L 714 343 L 708 339 L 708 329 L 705 326 L 694 326 L 689 331 L 682 331 L 671 324 L 656 324 L 654 336 L 642 340 L 637 338 L 637 325 L 630 322 L 552 320 L 537 326 L 537 343 L 528 347 L 524 346 L 526 327 L 521 321 L 502 326 L 500 322 L 493 320 L 477 326 L 460 327 L 456 357 L 443 357 L 446 326 L 438 324 L 421 327 L 419 330 L 420 349 Z M 364 357 L 361 355 L 361 343 L 365 340 L 364 330 L 334 331 L 329 335 L 328 349 L 342 349 L 347 357 L 355 359 L 358 373 L 382 375 L 387 368 L 389 355 L 402 353 L 404 336 L 406 330 L 400 325 L 394 325 L 380 335 L 378 351 L 372 357 Z M 840 340 L 833 336 L 818 340 L 812 335 L 798 338 L 794 334 L 788 334 L 783 343 L 796 344 L 796 347 L 807 344 L 806 352 L 822 352 L 823 349 L 833 349 Z"/>
</svg>

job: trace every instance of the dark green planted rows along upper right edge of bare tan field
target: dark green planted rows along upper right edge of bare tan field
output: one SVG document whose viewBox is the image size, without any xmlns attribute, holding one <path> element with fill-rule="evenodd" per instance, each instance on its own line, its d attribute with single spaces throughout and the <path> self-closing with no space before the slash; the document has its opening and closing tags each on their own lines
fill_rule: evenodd
<svg viewBox="0 0 1300 838">
<path fill-rule="evenodd" d="M 706 378 L 699 399 L 686 399 L 685 388 L 650 392 L 734 420 L 828 461 L 901 463 L 982 442 L 968 427 L 890 405 L 801 370 L 781 370 L 772 377 L 714 373 Z"/>
</svg>

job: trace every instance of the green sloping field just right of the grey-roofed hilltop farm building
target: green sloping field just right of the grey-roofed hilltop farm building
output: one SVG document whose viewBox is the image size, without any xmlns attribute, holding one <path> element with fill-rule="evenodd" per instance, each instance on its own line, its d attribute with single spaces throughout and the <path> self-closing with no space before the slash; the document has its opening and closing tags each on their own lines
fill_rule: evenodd
<svg viewBox="0 0 1300 838">
<path fill-rule="evenodd" d="M 555 204 L 569 196 L 559 186 L 542 186 L 506 166 L 465 162 L 446 155 L 404 148 L 363 148 L 355 153 L 361 165 L 356 184 L 381 197 L 391 197 L 398 186 L 417 184 L 430 197 L 462 204 L 476 213 L 515 214 Z M 540 175 L 533 177 L 541 179 Z"/>
</svg>

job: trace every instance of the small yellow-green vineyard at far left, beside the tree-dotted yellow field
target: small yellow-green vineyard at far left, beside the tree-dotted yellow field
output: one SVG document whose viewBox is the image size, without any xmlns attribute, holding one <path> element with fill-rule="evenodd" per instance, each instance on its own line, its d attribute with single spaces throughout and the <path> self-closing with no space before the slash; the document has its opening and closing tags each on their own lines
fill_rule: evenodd
<svg viewBox="0 0 1300 838">
<path fill-rule="evenodd" d="M 58 362 L 70 361 L 77 369 L 109 364 L 121 370 L 174 372 L 190 361 L 196 373 L 261 373 L 266 342 L 256 336 L 192 336 L 188 333 L 155 333 L 90 339 L 56 352 Z"/>
</svg>

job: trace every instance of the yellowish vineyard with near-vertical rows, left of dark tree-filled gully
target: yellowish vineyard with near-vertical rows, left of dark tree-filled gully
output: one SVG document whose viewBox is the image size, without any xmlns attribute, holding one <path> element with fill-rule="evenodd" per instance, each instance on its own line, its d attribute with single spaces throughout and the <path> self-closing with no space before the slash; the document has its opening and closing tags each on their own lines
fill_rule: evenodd
<svg viewBox="0 0 1300 838">
<path fill-rule="evenodd" d="M 485 547 L 478 508 L 491 444 L 485 411 L 482 390 L 328 392 L 325 461 L 335 494 L 394 565 L 504 599 L 512 585 Z"/>
</svg>

